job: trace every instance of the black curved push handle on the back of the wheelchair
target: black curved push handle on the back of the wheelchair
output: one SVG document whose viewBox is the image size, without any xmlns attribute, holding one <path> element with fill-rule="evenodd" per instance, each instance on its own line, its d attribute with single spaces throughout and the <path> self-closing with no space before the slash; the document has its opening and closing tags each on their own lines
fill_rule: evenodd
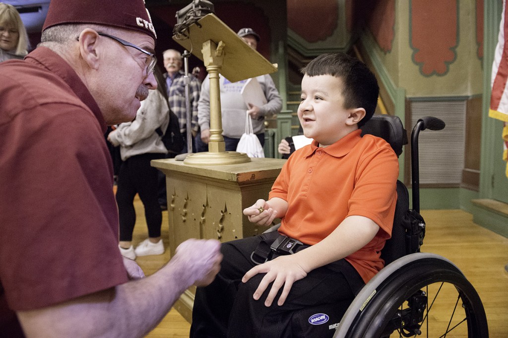
<svg viewBox="0 0 508 338">
<path fill-rule="evenodd" d="M 418 162 L 418 136 L 421 131 L 442 130 L 446 124 L 443 120 L 425 116 L 420 118 L 411 132 L 411 188 L 412 188 L 412 208 L 420 212 L 420 165 Z"/>
</svg>

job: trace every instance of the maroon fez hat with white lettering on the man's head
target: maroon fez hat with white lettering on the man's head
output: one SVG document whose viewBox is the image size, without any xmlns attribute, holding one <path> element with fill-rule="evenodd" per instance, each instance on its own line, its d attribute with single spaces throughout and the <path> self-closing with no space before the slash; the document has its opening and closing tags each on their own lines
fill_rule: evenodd
<svg viewBox="0 0 508 338">
<path fill-rule="evenodd" d="M 51 0 L 42 30 L 64 23 L 108 25 L 157 37 L 144 0 Z"/>
</svg>

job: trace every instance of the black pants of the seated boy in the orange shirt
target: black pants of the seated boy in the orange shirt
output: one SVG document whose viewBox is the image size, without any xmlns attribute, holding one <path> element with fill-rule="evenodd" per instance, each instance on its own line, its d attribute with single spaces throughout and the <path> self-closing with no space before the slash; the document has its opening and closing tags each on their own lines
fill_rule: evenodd
<svg viewBox="0 0 508 338">
<path fill-rule="evenodd" d="M 212 284 L 196 290 L 190 338 L 324 338 L 333 335 L 334 330 L 329 329 L 329 325 L 340 320 L 364 285 L 355 268 L 345 260 L 310 271 L 293 284 L 282 306 L 277 305 L 281 290 L 270 307 L 264 305 L 271 285 L 259 300 L 252 298 L 265 274 L 254 276 L 247 283 L 241 282 L 245 272 L 255 266 L 250 255 L 261 240 L 271 243 L 277 236 L 275 231 L 222 244 L 224 259 L 220 272 Z M 306 325 L 308 316 L 303 320 L 294 316 L 295 311 L 308 308 L 313 311 L 311 307 L 318 304 L 329 304 L 335 309 L 340 307 L 337 303 L 343 305 L 343 309 L 336 309 L 338 319 L 320 327 Z"/>
</svg>

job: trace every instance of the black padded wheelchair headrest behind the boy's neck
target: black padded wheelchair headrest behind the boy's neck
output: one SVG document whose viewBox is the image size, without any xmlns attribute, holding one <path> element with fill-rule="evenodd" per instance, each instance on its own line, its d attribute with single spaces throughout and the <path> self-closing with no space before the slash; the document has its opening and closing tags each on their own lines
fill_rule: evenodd
<svg viewBox="0 0 508 338">
<path fill-rule="evenodd" d="M 392 146 L 397 156 L 402 153 L 402 146 L 407 144 L 407 132 L 398 116 L 373 115 L 361 130 L 362 136 L 369 134 L 383 138 Z"/>
</svg>

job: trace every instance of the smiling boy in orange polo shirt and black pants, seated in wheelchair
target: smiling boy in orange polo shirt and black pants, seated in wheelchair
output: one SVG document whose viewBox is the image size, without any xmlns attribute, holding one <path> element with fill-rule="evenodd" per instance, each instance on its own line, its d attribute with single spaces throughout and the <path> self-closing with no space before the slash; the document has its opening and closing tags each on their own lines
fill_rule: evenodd
<svg viewBox="0 0 508 338">
<path fill-rule="evenodd" d="M 398 160 L 359 129 L 374 113 L 377 81 L 342 53 L 318 56 L 302 72 L 298 118 L 313 142 L 284 164 L 268 201 L 243 210 L 252 223 L 280 218 L 281 226 L 222 245 L 221 271 L 196 292 L 191 337 L 292 336 L 295 310 L 347 304 L 384 266 Z"/>
</svg>

